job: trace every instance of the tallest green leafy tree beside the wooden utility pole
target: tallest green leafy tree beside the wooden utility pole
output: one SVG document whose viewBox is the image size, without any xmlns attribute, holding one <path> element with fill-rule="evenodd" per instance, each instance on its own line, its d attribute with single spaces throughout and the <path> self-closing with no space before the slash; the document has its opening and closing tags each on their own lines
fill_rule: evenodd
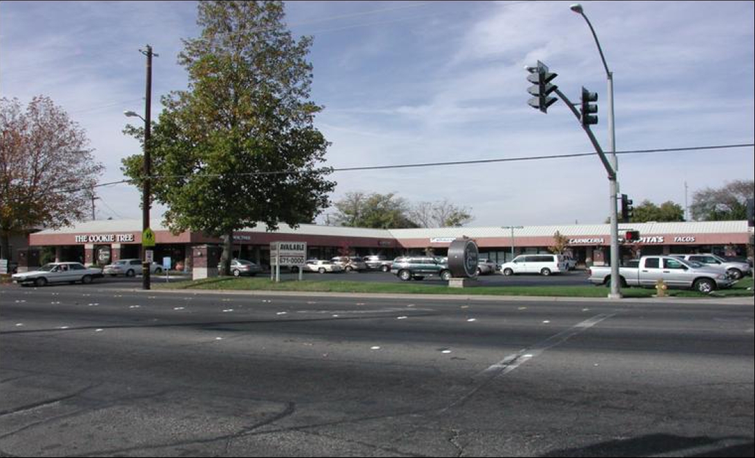
<svg viewBox="0 0 755 458">
<path fill-rule="evenodd" d="M 179 54 L 189 88 L 162 98 L 153 128 L 153 192 L 174 232 L 223 237 L 227 273 L 233 231 L 311 221 L 335 183 L 316 168 L 328 142 L 313 127 L 322 107 L 309 101 L 312 38 L 291 38 L 282 2 L 199 2 L 198 13 L 202 33 Z M 142 161 L 123 161 L 139 185 Z"/>
</svg>

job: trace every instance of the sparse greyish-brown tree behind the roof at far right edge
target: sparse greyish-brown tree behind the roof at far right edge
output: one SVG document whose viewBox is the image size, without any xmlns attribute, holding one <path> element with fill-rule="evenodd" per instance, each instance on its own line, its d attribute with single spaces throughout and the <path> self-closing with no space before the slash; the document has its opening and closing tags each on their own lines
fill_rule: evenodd
<svg viewBox="0 0 755 458">
<path fill-rule="evenodd" d="M 705 188 L 692 195 L 692 219 L 726 221 L 747 219 L 747 199 L 755 195 L 755 181 L 735 180 L 720 189 Z"/>
</svg>

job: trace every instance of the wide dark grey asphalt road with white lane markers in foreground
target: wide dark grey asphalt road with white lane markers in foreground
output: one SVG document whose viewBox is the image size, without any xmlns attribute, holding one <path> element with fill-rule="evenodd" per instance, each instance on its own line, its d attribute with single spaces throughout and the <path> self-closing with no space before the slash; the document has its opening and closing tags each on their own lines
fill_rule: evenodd
<svg viewBox="0 0 755 458">
<path fill-rule="evenodd" d="M 2 456 L 753 456 L 753 304 L 0 287 Z"/>
</svg>

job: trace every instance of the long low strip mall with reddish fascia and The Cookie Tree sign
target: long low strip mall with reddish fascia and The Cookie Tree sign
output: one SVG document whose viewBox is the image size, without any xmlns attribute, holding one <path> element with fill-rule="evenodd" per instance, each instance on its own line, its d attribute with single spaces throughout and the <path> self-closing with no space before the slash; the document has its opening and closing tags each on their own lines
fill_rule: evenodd
<svg viewBox="0 0 755 458">
<path fill-rule="evenodd" d="M 504 263 L 513 255 L 547 253 L 556 244 L 558 232 L 569 243 L 566 251 L 578 265 L 602 265 L 609 260 L 610 227 L 602 225 L 460 227 L 439 229 L 359 229 L 302 224 L 297 229 L 281 225 L 275 232 L 265 226 L 234 233 L 234 257 L 270 264 L 270 242 L 307 242 L 308 257 L 330 259 L 347 250 L 365 256 L 383 254 L 392 259 L 401 254 L 424 254 L 432 249 L 445 255 L 455 238 L 468 237 L 479 246 L 480 257 Z M 639 230 L 640 241 L 621 247 L 622 257 L 646 254 L 716 253 L 747 256 L 750 228 L 747 221 L 692 223 L 629 223 L 619 225 L 619 233 Z M 195 248 L 220 244 L 199 232 L 172 234 L 166 227 L 153 227 L 156 235 L 154 259 L 171 258 L 171 267 L 193 266 Z M 141 220 L 103 220 L 80 223 L 60 230 L 44 230 L 29 235 L 29 247 L 18 252 L 19 269 L 37 266 L 41 260 L 81 261 L 105 264 L 137 258 L 141 253 Z M 512 237 L 513 235 L 513 237 Z M 43 259 L 46 258 L 46 259 Z"/>
</svg>

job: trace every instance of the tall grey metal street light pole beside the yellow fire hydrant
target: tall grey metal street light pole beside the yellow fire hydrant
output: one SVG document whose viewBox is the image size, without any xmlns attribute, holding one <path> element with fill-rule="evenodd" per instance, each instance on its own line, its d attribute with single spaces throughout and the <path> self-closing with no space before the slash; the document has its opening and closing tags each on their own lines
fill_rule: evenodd
<svg viewBox="0 0 755 458">
<path fill-rule="evenodd" d="M 600 60 L 602 60 L 603 68 L 606 69 L 606 78 L 608 79 L 608 104 L 609 104 L 609 161 L 613 174 L 609 176 L 609 202 L 610 202 L 610 220 L 611 220 L 611 293 L 609 299 L 621 299 L 621 281 L 619 277 L 619 247 L 618 247 L 618 213 L 616 210 L 618 195 L 618 161 L 616 159 L 616 136 L 614 130 L 614 100 L 613 100 L 613 72 L 609 70 L 609 66 L 606 63 L 606 57 L 603 55 L 603 50 L 598 41 L 598 35 L 593 29 L 593 24 L 587 19 L 584 14 L 582 5 L 575 3 L 569 6 L 569 8 L 575 13 L 584 17 L 587 26 L 590 26 L 590 32 L 595 38 L 595 44 L 598 46 L 598 52 L 600 53 Z"/>
</svg>

